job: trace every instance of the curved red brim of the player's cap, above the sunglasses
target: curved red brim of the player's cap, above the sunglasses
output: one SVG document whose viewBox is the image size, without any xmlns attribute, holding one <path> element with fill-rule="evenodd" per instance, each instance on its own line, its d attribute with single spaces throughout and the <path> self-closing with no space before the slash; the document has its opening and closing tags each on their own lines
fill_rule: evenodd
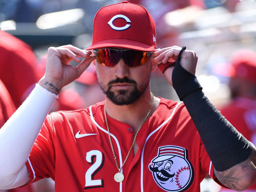
<svg viewBox="0 0 256 192">
<path fill-rule="evenodd" d="M 126 49 L 133 49 L 133 50 L 146 51 L 146 52 L 151 52 L 155 50 L 155 47 L 152 45 L 148 45 L 148 44 L 144 44 L 141 42 L 128 40 L 128 39 L 103 40 L 103 41 L 92 44 L 91 46 L 86 48 L 86 50 L 108 48 L 108 47 L 126 48 Z"/>
</svg>

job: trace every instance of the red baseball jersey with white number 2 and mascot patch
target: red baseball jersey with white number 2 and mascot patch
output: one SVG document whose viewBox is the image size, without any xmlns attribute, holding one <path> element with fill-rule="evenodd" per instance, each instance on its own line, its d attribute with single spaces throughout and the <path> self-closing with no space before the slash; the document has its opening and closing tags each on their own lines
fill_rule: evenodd
<svg viewBox="0 0 256 192">
<path fill-rule="evenodd" d="M 134 128 L 107 116 L 117 162 L 124 162 Z M 104 102 L 85 110 L 47 116 L 26 166 L 30 182 L 55 180 L 56 192 L 200 191 L 213 165 L 184 104 L 161 98 L 138 132 L 138 152 L 131 152 L 118 172 L 104 118 Z"/>
</svg>

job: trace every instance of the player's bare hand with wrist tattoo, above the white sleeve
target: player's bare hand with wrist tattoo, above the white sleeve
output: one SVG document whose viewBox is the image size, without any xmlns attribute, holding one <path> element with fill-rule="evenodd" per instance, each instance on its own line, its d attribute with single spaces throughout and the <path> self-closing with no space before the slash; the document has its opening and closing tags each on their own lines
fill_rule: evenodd
<svg viewBox="0 0 256 192">
<path fill-rule="evenodd" d="M 72 45 L 50 47 L 46 60 L 46 71 L 38 84 L 50 92 L 58 94 L 64 86 L 80 77 L 90 63 L 96 59 L 95 56 L 90 56 L 91 54 L 91 51 L 82 50 Z M 79 57 L 85 59 L 81 62 Z M 81 63 L 74 67 L 68 64 L 72 60 Z"/>
</svg>

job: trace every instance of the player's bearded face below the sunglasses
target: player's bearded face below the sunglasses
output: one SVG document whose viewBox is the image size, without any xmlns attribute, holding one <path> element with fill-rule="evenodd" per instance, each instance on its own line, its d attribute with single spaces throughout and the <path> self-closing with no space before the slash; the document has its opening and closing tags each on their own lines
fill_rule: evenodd
<svg viewBox="0 0 256 192">
<path fill-rule="evenodd" d="M 96 72 L 100 88 L 116 105 L 132 104 L 149 88 L 151 62 L 142 66 L 129 67 L 121 58 L 113 67 L 96 61 Z"/>
</svg>

